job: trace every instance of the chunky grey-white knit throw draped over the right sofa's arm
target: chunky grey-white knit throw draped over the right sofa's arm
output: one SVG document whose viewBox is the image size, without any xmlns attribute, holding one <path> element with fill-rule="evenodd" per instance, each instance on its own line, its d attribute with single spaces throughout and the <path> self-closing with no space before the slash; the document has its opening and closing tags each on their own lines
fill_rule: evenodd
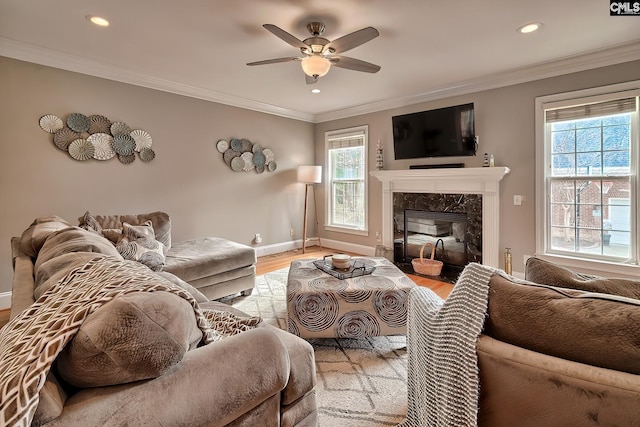
<svg viewBox="0 0 640 427">
<path fill-rule="evenodd" d="M 479 376 L 476 342 L 494 269 L 469 264 L 443 302 L 427 288 L 409 294 L 408 411 L 399 427 L 475 427 Z"/>
</svg>

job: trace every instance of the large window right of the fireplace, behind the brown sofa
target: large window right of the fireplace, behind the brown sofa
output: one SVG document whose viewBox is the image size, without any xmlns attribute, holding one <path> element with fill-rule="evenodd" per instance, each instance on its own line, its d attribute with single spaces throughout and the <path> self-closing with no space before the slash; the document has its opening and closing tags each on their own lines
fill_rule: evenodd
<svg viewBox="0 0 640 427">
<path fill-rule="evenodd" d="M 538 254 L 638 264 L 639 83 L 536 100 Z"/>
</svg>

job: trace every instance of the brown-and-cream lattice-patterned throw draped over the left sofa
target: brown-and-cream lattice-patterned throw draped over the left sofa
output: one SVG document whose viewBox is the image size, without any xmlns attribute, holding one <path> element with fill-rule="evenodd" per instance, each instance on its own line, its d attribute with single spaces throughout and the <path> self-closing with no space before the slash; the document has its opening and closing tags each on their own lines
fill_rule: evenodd
<svg viewBox="0 0 640 427">
<path fill-rule="evenodd" d="M 0 426 L 31 424 L 51 364 L 91 313 L 121 295 L 158 291 L 191 304 L 203 344 L 260 321 L 202 310 L 190 293 L 134 261 L 92 259 L 0 329 Z"/>
</svg>

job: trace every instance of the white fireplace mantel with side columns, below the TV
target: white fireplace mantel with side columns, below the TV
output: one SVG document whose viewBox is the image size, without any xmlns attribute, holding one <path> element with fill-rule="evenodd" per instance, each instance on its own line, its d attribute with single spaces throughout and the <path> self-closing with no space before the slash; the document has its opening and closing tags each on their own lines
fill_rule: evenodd
<svg viewBox="0 0 640 427">
<path fill-rule="evenodd" d="M 508 167 L 379 170 L 382 182 L 382 243 L 393 247 L 393 193 L 481 194 L 482 263 L 499 267 L 500 181 Z"/>
</svg>

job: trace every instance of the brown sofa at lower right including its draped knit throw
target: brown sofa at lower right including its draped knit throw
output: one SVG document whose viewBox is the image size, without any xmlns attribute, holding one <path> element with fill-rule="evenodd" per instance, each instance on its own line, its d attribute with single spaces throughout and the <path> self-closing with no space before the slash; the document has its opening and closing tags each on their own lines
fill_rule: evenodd
<svg viewBox="0 0 640 427">
<path fill-rule="evenodd" d="M 530 258 L 409 295 L 408 423 L 640 426 L 640 281 Z"/>
</svg>

